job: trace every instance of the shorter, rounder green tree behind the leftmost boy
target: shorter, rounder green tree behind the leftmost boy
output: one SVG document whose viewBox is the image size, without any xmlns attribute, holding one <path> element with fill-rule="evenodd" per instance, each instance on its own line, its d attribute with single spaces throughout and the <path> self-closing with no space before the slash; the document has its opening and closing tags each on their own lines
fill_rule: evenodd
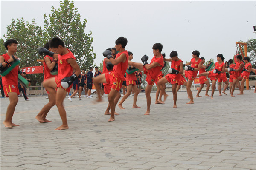
<svg viewBox="0 0 256 170">
<path fill-rule="evenodd" d="M 14 20 L 12 23 L 6 27 L 7 33 L 3 36 L 6 40 L 14 38 L 19 43 L 17 49 L 17 57 L 20 60 L 20 67 L 31 67 L 42 65 L 40 62 L 37 62 L 38 46 L 42 46 L 44 43 L 44 38 L 42 38 L 42 28 L 35 23 L 35 20 L 32 20 L 32 23 L 28 21 L 25 22 L 23 18 Z M 1 40 L 1 54 L 2 54 L 2 41 Z M 31 85 L 40 84 L 44 79 L 43 74 L 27 74 L 29 79 L 31 79 Z"/>
</svg>

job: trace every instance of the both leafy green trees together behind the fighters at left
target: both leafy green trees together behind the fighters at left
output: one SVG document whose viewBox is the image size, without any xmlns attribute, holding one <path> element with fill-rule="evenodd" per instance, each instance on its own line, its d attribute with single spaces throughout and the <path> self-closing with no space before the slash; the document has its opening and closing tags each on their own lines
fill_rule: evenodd
<svg viewBox="0 0 256 170">
<path fill-rule="evenodd" d="M 44 14 L 44 28 L 38 26 L 33 19 L 32 22 L 25 21 L 23 18 L 12 19 L 12 23 L 4 34 L 6 40 L 14 38 L 17 40 L 17 57 L 20 59 L 20 67 L 31 67 L 42 65 L 37 59 L 43 59 L 37 52 L 37 48 L 44 46 L 53 37 L 60 37 L 70 51 L 76 57 L 81 68 L 89 68 L 93 65 L 96 54 L 93 52 L 92 32 L 85 34 L 87 20 L 81 21 L 81 15 L 75 8 L 74 2 L 69 0 L 60 1 L 60 8 L 52 6 L 51 14 Z M 1 54 L 6 53 L 3 46 L 4 40 L 1 39 Z M 41 84 L 43 74 L 27 74 L 31 79 L 31 85 Z"/>
</svg>

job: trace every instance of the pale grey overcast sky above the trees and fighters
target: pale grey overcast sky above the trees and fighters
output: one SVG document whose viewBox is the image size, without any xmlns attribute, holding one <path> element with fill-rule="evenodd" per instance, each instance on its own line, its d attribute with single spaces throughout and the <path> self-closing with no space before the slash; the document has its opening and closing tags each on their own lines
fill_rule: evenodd
<svg viewBox="0 0 256 170">
<path fill-rule="evenodd" d="M 23 17 L 44 26 L 44 14 L 59 1 L 1 0 L 1 38 L 12 18 Z M 115 40 L 128 39 L 126 50 L 133 52 L 134 61 L 147 54 L 153 57 L 154 43 L 163 44 L 167 57 L 178 52 L 183 62 L 190 61 L 192 51 L 200 57 L 215 59 L 223 54 L 225 60 L 236 54 L 236 41 L 255 38 L 256 1 L 78 1 L 75 7 L 81 19 L 87 19 L 85 33 L 92 31 L 94 63 L 102 62 L 102 52 L 112 48 Z"/>
</svg>

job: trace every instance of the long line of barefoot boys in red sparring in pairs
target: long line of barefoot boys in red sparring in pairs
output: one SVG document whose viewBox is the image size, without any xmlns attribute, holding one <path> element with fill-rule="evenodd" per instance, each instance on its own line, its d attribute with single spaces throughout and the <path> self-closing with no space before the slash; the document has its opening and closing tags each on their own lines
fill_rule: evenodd
<svg viewBox="0 0 256 170">
<path fill-rule="evenodd" d="M 17 41 L 16 41 L 17 42 Z M 11 42 L 6 45 L 6 48 L 8 49 L 8 53 L 1 56 L 1 63 L 4 67 L 7 66 L 5 63 L 6 61 L 12 62 L 12 56 L 17 51 L 17 43 Z M 191 91 L 191 85 L 195 77 L 201 77 L 201 84 L 206 83 L 207 79 L 206 76 L 210 77 L 212 80 L 212 95 L 211 99 L 213 99 L 214 94 L 214 87 L 215 83 L 218 79 L 222 79 L 225 83 L 227 80 L 223 77 L 224 73 L 226 71 L 232 72 L 233 77 L 233 86 L 231 91 L 231 96 L 233 96 L 233 92 L 235 89 L 236 81 L 238 81 L 239 76 L 241 74 L 241 71 L 243 70 L 243 62 L 241 55 L 237 55 L 237 62 L 235 68 L 230 68 L 230 70 L 227 70 L 226 65 L 224 64 L 224 57 L 222 54 L 217 55 L 217 62 L 215 63 L 215 69 L 209 72 L 205 72 L 205 68 L 203 66 L 204 58 L 199 58 L 199 51 L 195 50 L 192 52 L 192 59 L 190 62 L 183 64 L 183 61 L 178 58 L 177 51 L 172 51 L 170 53 L 170 59 L 166 59 L 161 54 L 163 45 L 161 43 L 155 43 L 152 47 L 154 57 L 151 59 L 150 64 L 148 64 L 148 56 L 144 55 L 141 60 L 143 63 L 138 62 L 132 62 L 131 59 L 133 58 L 133 54 L 131 52 L 128 52 L 125 50 L 125 46 L 127 45 L 127 39 L 125 37 L 119 37 L 115 42 L 115 48 L 116 51 L 119 51 L 118 54 L 114 55 L 113 51 L 106 50 L 103 55 L 106 57 L 103 62 L 103 74 L 98 75 L 94 78 L 94 84 L 97 90 L 98 98 L 96 99 L 96 102 L 102 101 L 102 95 L 100 93 L 100 83 L 103 83 L 105 93 L 108 94 L 108 108 L 105 112 L 105 114 L 110 114 L 110 119 L 108 121 L 114 121 L 115 120 L 115 108 L 117 105 L 117 102 L 119 98 L 121 97 L 119 90 L 122 87 L 123 81 L 128 81 L 128 89 L 129 92 L 131 88 L 135 85 L 133 82 L 133 78 L 135 80 L 135 77 L 131 75 L 131 79 L 125 79 L 124 75 L 126 72 L 126 69 L 129 67 L 135 67 L 138 68 L 140 71 L 143 71 L 144 74 L 146 74 L 146 81 L 147 86 L 145 90 L 146 94 L 146 100 L 147 100 L 147 110 L 144 115 L 150 114 L 150 106 L 151 106 L 151 89 L 154 85 L 154 83 L 157 84 L 157 88 L 159 88 L 164 96 L 164 101 L 166 101 L 168 95 L 165 92 L 165 84 L 167 82 L 172 84 L 172 93 L 173 93 L 173 100 L 174 105 L 173 107 L 177 107 L 177 90 L 178 85 L 182 85 L 186 83 L 187 88 L 187 94 L 189 96 L 190 101 L 187 102 L 187 104 L 193 104 L 193 94 Z M 52 40 L 47 43 L 44 48 L 38 48 L 39 54 L 45 54 L 44 57 L 44 68 L 45 68 L 45 77 L 43 85 L 47 89 L 47 93 L 49 94 L 49 102 L 42 108 L 40 113 L 36 116 L 36 119 L 39 122 L 51 122 L 46 119 L 47 113 L 49 112 L 50 108 L 54 105 L 57 106 L 59 114 L 61 116 L 62 125 L 55 130 L 64 130 L 68 129 L 67 125 L 67 116 L 66 111 L 63 106 L 64 98 L 67 94 L 67 92 L 70 91 L 70 88 L 72 87 L 72 83 L 77 77 L 81 74 L 81 70 L 79 68 L 79 65 L 76 62 L 76 58 L 72 54 L 72 52 L 65 48 L 64 42 L 59 39 L 58 37 L 53 38 Z M 165 77 L 161 75 L 161 69 L 164 66 L 164 61 L 171 62 L 171 68 L 169 68 L 169 74 L 167 74 Z M 248 78 L 248 75 L 250 74 L 250 71 L 255 71 L 255 69 L 251 69 L 250 65 L 250 59 L 249 57 L 245 57 L 244 61 L 246 63 L 244 68 L 244 73 L 242 74 L 243 80 L 242 84 L 244 83 L 245 79 Z M 50 74 L 50 71 L 52 68 L 55 67 L 55 65 L 58 63 L 58 75 L 53 76 Z M 191 66 L 189 66 L 191 65 Z M 182 76 L 185 70 L 185 76 L 188 77 L 188 81 L 184 79 Z M 6 82 L 7 79 L 3 79 L 3 88 L 5 90 L 6 96 L 10 97 L 10 105 L 7 108 L 6 112 L 6 120 L 3 122 L 6 127 L 12 127 L 12 126 L 18 126 L 12 123 L 12 116 L 14 113 L 15 106 L 17 105 L 17 72 L 18 67 L 13 69 L 11 71 L 12 74 L 9 74 L 10 77 L 15 78 L 13 82 Z M 73 73 L 73 69 L 75 72 Z M 202 70 L 201 70 L 202 69 Z M 201 71 L 200 71 L 201 70 Z M 200 74 L 198 74 L 198 71 L 200 71 Z M 7 77 L 3 77 L 7 78 Z M 130 86 L 131 88 L 130 88 Z M 226 84 L 227 86 L 227 84 Z M 225 86 L 225 88 L 226 88 Z M 207 86 L 208 87 L 208 86 Z M 15 90 L 16 89 L 16 90 Z M 134 88 L 134 91 L 136 93 L 136 96 L 134 98 L 134 104 L 133 108 L 140 108 L 136 105 L 137 101 L 137 94 L 138 91 L 137 88 Z M 209 88 L 208 88 L 209 89 Z M 225 94 L 225 89 L 223 91 Z M 207 94 L 207 93 L 206 93 Z M 243 94 L 241 91 L 240 94 Z M 207 94 L 208 95 L 208 94 Z M 207 96 L 206 95 L 206 96 Z M 197 94 L 199 96 L 199 93 Z M 208 95 L 209 96 L 209 95 Z M 127 98 L 127 97 L 126 97 Z M 125 100 L 125 98 L 123 98 Z M 120 106 L 122 106 L 122 102 L 124 100 L 121 100 L 119 103 Z M 161 100 L 160 100 L 161 101 Z M 163 102 L 164 102 L 163 101 Z M 111 110 L 111 112 L 109 112 Z"/>
</svg>

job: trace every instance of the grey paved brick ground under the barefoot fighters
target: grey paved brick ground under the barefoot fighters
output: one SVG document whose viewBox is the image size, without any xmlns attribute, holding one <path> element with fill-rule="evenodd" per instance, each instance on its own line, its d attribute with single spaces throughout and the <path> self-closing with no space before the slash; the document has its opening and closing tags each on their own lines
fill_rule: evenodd
<svg viewBox="0 0 256 170">
<path fill-rule="evenodd" d="M 54 130 L 61 125 L 56 107 L 47 116 L 51 123 L 35 119 L 48 101 L 45 97 L 29 97 L 29 102 L 20 97 L 13 117 L 20 126 L 5 128 L 9 99 L 2 98 L 1 169 L 256 169 L 253 90 L 234 98 L 215 92 L 215 100 L 195 98 L 193 105 L 185 104 L 186 92 L 178 92 L 178 108 L 172 108 L 172 93 L 168 94 L 163 105 L 155 105 L 155 93 L 151 94 L 149 116 L 143 116 L 145 93 L 138 96 L 138 109 L 131 108 L 133 98 L 128 97 L 126 109 L 116 109 L 120 115 L 114 122 L 103 115 L 107 97 L 100 104 L 66 98 L 70 129 L 59 131 Z"/>
</svg>

